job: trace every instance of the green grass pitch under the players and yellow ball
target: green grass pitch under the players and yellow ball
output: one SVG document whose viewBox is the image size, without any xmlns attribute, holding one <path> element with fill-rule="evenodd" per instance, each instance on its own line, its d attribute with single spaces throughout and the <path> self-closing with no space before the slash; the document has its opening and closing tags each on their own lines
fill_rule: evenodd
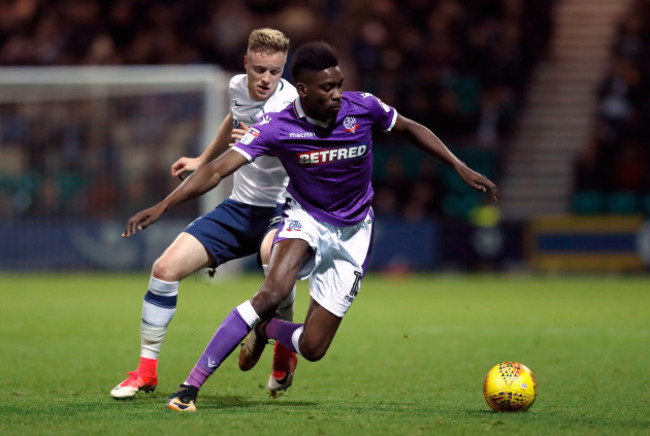
<svg viewBox="0 0 650 436">
<path fill-rule="evenodd" d="M 650 278 L 366 277 L 325 358 L 300 360 L 269 398 L 270 348 L 250 372 L 230 357 L 196 414 L 164 408 L 218 323 L 260 276 L 181 284 L 155 393 L 108 392 L 139 356 L 146 274 L 0 276 L 0 434 L 650 435 Z M 297 319 L 308 301 L 299 283 Z M 492 412 L 483 378 L 535 373 L 526 413 Z"/>
</svg>

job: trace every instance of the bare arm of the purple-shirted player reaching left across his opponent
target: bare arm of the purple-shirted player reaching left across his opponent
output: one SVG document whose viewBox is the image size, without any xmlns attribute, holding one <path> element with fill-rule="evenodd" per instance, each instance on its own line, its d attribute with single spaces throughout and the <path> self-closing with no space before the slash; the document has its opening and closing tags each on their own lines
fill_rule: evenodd
<svg viewBox="0 0 650 436">
<path fill-rule="evenodd" d="M 183 183 L 178 185 L 164 200 L 129 218 L 122 237 L 128 238 L 138 230 L 146 229 L 158 221 L 165 211 L 208 192 L 216 187 L 224 177 L 229 176 L 246 163 L 248 163 L 248 160 L 244 156 L 236 151 L 229 150 L 209 164 L 200 167 Z"/>
</svg>

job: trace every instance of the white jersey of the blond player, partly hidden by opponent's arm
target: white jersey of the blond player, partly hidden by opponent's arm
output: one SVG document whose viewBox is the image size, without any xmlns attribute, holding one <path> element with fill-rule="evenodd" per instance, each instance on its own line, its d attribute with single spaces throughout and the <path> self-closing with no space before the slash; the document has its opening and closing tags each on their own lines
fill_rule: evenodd
<svg viewBox="0 0 650 436">
<path fill-rule="evenodd" d="M 248 93 L 248 76 L 238 74 L 230 79 L 228 89 L 230 111 L 235 124 L 252 126 L 263 121 L 264 114 L 279 112 L 298 97 L 296 88 L 285 79 L 268 99 L 257 101 Z M 230 198 L 253 206 L 272 207 L 284 203 L 289 182 L 284 167 L 272 156 L 260 156 L 235 171 Z"/>
</svg>

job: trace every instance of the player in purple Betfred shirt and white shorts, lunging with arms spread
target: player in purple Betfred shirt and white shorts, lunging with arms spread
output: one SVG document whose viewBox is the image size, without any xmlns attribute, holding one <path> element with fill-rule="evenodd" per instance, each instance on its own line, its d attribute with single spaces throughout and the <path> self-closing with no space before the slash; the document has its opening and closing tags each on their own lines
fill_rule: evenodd
<svg viewBox="0 0 650 436">
<path fill-rule="evenodd" d="M 217 186 L 262 155 L 277 157 L 289 174 L 280 228 L 264 283 L 222 321 L 167 407 L 195 411 L 199 389 L 252 329 L 257 346 L 242 350 L 252 367 L 275 339 L 309 361 L 320 360 L 359 292 L 372 245 L 374 216 L 372 132 L 392 131 L 450 165 L 469 186 L 496 201 L 496 185 L 468 168 L 429 129 L 368 93 L 343 92 L 343 72 L 324 42 L 306 43 L 291 64 L 299 98 L 255 124 L 235 146 L 199 169 L 160 203 L 134 215 L 130 236 L 171 207 Z M 310 305 L 303 324 L 273 318 L 296 279 L 309 278 Z"/>
</svg>

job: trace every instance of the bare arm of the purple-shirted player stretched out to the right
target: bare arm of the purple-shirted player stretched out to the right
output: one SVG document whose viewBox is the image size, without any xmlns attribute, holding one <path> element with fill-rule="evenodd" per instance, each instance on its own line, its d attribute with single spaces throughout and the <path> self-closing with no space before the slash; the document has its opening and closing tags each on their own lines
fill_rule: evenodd
<svg viewBox="0 0 650 436">
<path fill-rule="evenodd" d="M 435 154 L 442 161 L 451 166 L 463 181 L 472 188 L 490 195 L 493 201 L 499 199 L 499 189 L 490 179 L 483 174 L 469 168 L 465 162 L 454 155 L 449 148 L 428 128 L 409 118 L 397 116 L 393 132 L 404 136 L 416 147 Z"/>
</svg>

